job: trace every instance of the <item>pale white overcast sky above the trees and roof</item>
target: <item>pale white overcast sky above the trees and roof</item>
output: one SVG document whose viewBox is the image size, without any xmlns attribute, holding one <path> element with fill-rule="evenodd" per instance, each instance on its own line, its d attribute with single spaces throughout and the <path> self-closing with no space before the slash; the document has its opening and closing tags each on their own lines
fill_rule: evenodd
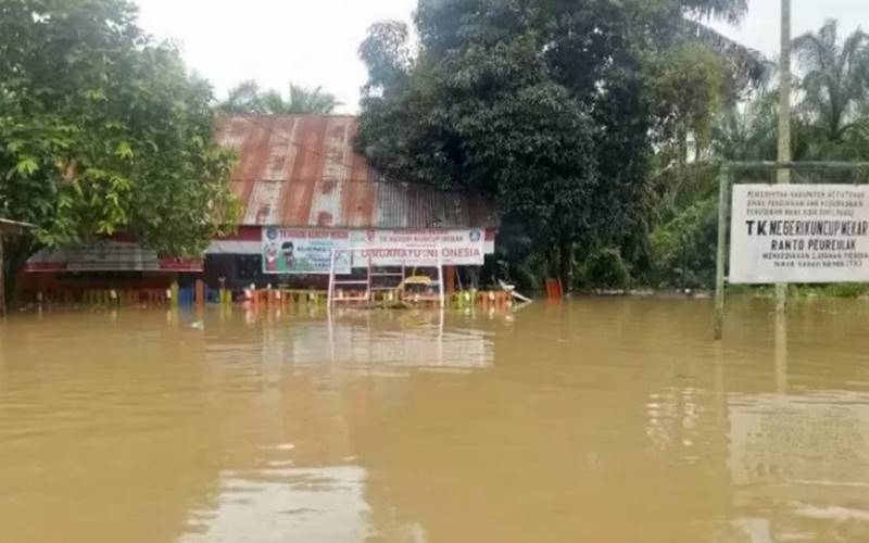
<svg viewBox="0 0 869 543">
<path fill-rule="evenodd" d="M 323 86 L 355 112 L 366 72 L 356 48 L 371 23 L 410 23 L 416 0 L 136 0 L 141 25 L 178 41 L 188 65 L 223 98 L 244 79 L 286 92 L 288 81 Z M 740 27 L 726 35 L 773 55 L 779 0 L 750 0 Z M 869 27 L 869 0 L 792 0 L 794 36 L 834 17 L 843 29 Z"/>
</svg>

